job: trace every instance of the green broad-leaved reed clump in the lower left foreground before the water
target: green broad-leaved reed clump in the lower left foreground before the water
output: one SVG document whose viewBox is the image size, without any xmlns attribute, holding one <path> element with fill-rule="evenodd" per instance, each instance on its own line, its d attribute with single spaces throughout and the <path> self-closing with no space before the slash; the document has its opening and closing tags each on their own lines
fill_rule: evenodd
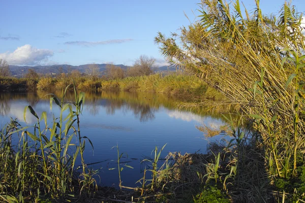
<svg viewBox="0 0 305 203">
<path fill-rule="evenodd" d="M 95 171 L 88 170 L 83 160 L 85 141 L 80 134 L 79 115 L 84 105 L 84 93 L 78 93 L 74 84 L 75 101 L 66 101 L 69 86 L 62 91 L 62 98 L 50 96 L 59 107 L 58 117 L 53 115 L 49 122 L 47 112 L 41 116 L 32 108 L 24 109 L 36 118 L 33 126 L 21 127 L 17 120 L 11 120 L 0 131 L 0 197 L 7 202 L 40 201 L 42 199 L 68 200 L 77 192 L 92 194 L 97 183 Z M 67 116 L 66 113 L 68 113 Z M 74 126 L 75 121 L 77 126 Z M 72 142 L 77 136 L 79 143 Z M 68 153 L 69 149 L 74 153 Z M 82 173 L 77 178 L 75 163 L 81 154 Z M 77 183 L 79 182 L 79 184 Z"/>
</svg>

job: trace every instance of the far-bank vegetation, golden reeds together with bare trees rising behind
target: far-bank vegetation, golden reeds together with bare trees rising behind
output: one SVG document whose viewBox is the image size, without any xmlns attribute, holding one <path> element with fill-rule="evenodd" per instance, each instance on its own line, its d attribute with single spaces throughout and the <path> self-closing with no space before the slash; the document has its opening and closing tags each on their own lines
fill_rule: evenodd
<svg viewBox="0 0 305 203">
<path fill-rule="evenodd" d="M 54 77 L 50 77 L 29 69 L 24 78 L 14 78 L 9 76 L 9 66 L 6 61 L 4 63 L 7 74 L 0 77 L 1 90 L 61 90 L 75 81 L 80 90 L 148 91 L 217 100 L 223 98 L 222 94 L 187 73 L 155 73 L 155 59 L 145 55 L 141 55 L 127 70 L 108 64 L 104 75 L 97 64 L 90 64 L 85 74 L 77 70 L 66 74 L 59 70 Z"/>
</svg>

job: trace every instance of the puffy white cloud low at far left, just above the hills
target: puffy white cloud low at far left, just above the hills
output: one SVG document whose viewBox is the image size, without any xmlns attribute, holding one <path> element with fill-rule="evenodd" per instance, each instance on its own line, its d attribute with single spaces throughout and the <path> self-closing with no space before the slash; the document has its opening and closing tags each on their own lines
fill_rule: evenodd
<svg viewBox="0 0 305 203">
<path fill-rule="evenodd" d="M 50 56 L 53 56 L 52 50 L 37 49 L 31 45 L 18 47 L 12 53 L 0 53 L 0 58 L 7 60 L 10 65 L 45 64 Z"/>
</svg>

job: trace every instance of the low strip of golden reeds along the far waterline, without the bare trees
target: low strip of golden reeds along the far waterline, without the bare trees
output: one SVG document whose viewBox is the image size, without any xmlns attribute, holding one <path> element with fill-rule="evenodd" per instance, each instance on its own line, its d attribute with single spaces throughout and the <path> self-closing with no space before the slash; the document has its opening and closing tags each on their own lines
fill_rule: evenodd
<svg viewBox="0 0 305 203">
<path fill-rule="evenodd" d="M 6 91 L 16 90 L 62 90 L 75 81 L 80 90 L 123 90 L 159 92 L 183 97 L 207 98 L 222 100 L 224 96 L 216 90 L 208 87 L 196 76 L 171 74 L 163 76 L 154 74 L 149 76 L 127 77 L 118 80 L 90 79 L 90 78 L 0 78 L 0 89 Z"/>
</svg>

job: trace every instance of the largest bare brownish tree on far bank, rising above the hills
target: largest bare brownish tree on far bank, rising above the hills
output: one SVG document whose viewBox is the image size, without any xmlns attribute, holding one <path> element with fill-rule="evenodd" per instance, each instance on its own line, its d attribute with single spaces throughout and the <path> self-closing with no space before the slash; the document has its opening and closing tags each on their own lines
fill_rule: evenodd
<svg viewBox="0 0 305 203">
<path fill-rule="evenodd" d="M 148 57 L 146 55 L 141 55 L 133 64 L 133 67 L 127 70 L 128 76 L 148 76 L 154 73 L 155 70 L 154 57 Z"/>
</svg>

